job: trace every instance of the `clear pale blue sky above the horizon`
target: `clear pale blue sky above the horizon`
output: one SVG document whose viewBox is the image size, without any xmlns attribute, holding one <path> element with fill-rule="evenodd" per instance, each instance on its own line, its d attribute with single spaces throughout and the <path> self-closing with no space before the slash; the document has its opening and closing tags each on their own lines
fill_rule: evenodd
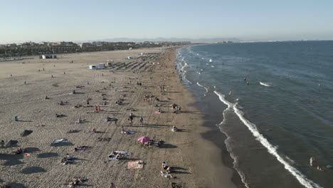
<svg viewBox="0 0 333 188">
<path fill-rule="evenodd" d="M 333 39 L 333 0 L 0 0 L 0 43 Z"/>
</svg>

